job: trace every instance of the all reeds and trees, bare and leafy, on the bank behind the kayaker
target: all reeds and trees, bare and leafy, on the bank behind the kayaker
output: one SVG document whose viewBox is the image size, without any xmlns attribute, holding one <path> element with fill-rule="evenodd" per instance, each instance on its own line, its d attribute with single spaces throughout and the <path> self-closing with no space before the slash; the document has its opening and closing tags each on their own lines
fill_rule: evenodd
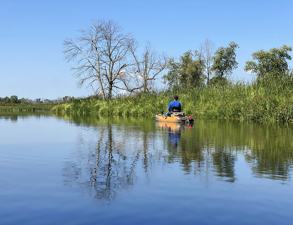
<svg viewBox="0 0 293 225">
<path fill-rule="evenodd" d="M 150 42 L 142 50 L 117 22 L 98 20 L 78 37 L 66 38 L 63 46 L 64 59 L 75 64 L 71 70 L 79 86 L 93 88 L 96 96 L 72 98 L 53 112 L 154 116 L 166 112 L 176 94 L 185 114 L 193 117 L 293 122 L 293 74 L 287 63 L 291 46 L 252 53 L 244 67 L 256 75 L 250 83 L 228 77 L 238 67 L 240 46 L 233 41 L 216 49 L 207 38 L 176 61 L 156 52 Z M 166 88 L 156 89 L 164 69 Z M 113 94 L 121 91 L 126 94 Z"/>
</svg>

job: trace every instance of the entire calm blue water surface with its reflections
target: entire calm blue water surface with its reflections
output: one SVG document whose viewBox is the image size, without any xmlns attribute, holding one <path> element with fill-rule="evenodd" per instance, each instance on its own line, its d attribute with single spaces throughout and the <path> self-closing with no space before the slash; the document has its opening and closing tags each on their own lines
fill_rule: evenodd
<svg viewBox="0 0 293 225">
<path fill-rule="evenodd" d="M 0 224 L 292 224 L 293 126 L 0 113 Z"/>
</svg>

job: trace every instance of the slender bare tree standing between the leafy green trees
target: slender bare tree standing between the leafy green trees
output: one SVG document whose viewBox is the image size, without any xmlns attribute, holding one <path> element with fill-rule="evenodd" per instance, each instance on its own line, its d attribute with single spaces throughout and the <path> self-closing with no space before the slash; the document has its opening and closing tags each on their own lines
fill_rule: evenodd
<svg viewBox="0 0 293 225">
<path fill-rule="evenodd" d="M 207 86 L 209 86 L 209 78 L 212 74 L 211 62 L 212 62 L 212 57 L 214 55 L 214 51 L 215 51 L 215 44 L 209 38 L 205 39 L 205 42 L 200 44 L 199 52 L 202 53 L 201 57 L 205 62 L 206 73 L 207 73 Z"/>
</svg>

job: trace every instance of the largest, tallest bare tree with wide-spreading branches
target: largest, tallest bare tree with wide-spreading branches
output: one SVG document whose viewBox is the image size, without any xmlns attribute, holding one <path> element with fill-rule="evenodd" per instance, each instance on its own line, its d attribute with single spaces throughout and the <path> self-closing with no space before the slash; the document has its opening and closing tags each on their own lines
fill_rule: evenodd
<svg viewBox="0 0 293 225">
<path fill-rule="evenodd" d="M 116 84 L 121 82 L 124 70 L 130 66 L 127 56 L 131 54 L 133 37 L 123 33 L 123 28 L 115 21 L 92 21 L 92 26 L 75 39 L 66 38 L 63 42 L 67 62 L 76 60 L 74 76 L 79 87 L 87 87 L 100 93 L 103 99 L 112 97 L 113 88 L 123 89 Z M 98 87 L 96 85 L 98 81 Z M 123 81 L 122 81 L 123 82 Z"/>
</svg>

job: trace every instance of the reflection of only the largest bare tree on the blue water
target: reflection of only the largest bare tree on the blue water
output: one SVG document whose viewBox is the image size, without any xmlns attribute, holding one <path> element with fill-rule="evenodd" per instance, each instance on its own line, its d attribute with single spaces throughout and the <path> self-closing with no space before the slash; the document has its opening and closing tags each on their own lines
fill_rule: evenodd
<svg viewBox="0 0 293 225">
<path fill-rule="evenodd" d="M 64 184 L 82 188 L 90 196 L 109 204 L 122 190 L 136 183 L 134 170 L 138 154 L 127 154 L 125 139 L 117 138 L 117 128 L 104 124 L 96 129 L 96 143 L 80 142 L 72 161 L 64 167 Z M 114 137 L 115 136 L 115 137 Z"/>
</svg>

